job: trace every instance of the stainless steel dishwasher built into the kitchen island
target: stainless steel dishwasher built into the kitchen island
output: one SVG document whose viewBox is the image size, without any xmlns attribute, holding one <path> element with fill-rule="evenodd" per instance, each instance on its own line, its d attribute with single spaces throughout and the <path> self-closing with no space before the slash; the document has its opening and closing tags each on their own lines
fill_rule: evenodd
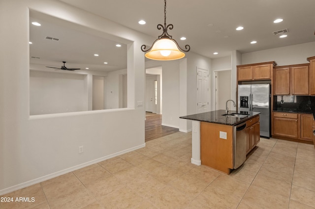
<svg viewBox="0 0 315 209">
<path fill-rule="evenodd" d="M 246 160 L 246 123 L 233 127 L 233 169 L 240 167 Z"/>
</svg>

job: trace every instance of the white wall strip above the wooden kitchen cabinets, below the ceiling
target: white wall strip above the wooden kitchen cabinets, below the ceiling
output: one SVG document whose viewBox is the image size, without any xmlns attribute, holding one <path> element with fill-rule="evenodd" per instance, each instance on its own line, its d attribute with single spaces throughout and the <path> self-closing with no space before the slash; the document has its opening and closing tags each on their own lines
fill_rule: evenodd
<svg viewBox="0 0 315 209">
<path fill-rule="evenodd" d="M 315 42 L 242 54 L 242 64 L 276 61 L 278 66 L 309 63 L 315 56 Z"/>
</svg>

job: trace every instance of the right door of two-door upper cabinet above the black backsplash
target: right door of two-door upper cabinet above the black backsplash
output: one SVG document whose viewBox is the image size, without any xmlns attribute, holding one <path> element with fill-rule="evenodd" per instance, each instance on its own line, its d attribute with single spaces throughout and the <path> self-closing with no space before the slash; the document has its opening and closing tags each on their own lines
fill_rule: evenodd
<svg viewBox="0 0 315 209">
<path fill-rule="evenodd" d="M 309 95 L 309 79 L 309 66 L 292 67 L 292 95 Z"/>
</svg>

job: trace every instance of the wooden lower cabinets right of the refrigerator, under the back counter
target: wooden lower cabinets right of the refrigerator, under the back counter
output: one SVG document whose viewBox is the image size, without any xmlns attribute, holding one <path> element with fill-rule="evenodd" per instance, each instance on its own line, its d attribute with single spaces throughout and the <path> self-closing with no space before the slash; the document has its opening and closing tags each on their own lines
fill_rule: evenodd
<svg viewBox="0 0 315 209">
<path fill-rule="evenodd" d="M 273 135 L 313 141 L 313 114 L 273 112 Z"/>
</svg>

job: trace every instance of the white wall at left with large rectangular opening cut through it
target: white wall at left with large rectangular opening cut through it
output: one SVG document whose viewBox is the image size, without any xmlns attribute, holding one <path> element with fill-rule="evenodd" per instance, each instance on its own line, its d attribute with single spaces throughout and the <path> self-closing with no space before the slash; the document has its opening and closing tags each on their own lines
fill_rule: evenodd
<svg viewBox="0 0 315 209">
<path fill-rule="evenodd" d="M 128 108 L 30 116 L 29 8 L 127 44 Z M 58 0 L 1 0 L 0 25 L 0 195 L 145 145 L 140 47 L 153 37 Z"/>
</svg>

